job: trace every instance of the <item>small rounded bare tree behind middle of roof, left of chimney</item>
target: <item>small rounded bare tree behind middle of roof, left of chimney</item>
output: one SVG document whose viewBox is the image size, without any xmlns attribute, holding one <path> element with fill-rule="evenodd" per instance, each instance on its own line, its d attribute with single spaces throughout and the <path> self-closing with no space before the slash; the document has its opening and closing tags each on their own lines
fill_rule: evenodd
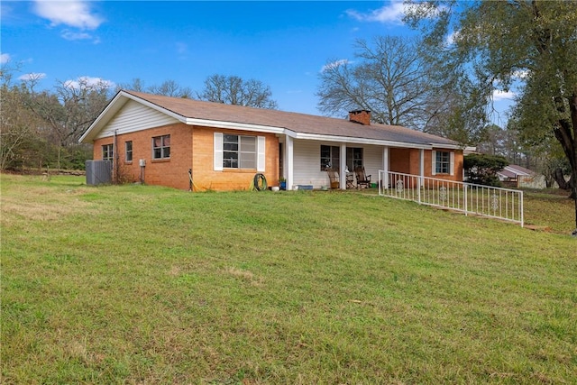
<svg viewBox="0 0 577 385">
<path fill-rule="evenodd" d="M 201 100 L 227 105 L 247 105 L 257 108 L 278 108 L 271 98 L 270 87 L 260 80 L 243 80 L 236 76 L 212 75 L 205 80 L 205 88 L 197 93 Z"/>
</svg>

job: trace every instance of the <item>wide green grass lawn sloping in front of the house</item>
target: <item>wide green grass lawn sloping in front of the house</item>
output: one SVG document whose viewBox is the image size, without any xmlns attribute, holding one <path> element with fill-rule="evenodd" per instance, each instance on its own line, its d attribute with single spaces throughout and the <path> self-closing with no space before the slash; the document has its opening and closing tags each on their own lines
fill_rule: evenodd
<svg viewBox="0 0 577 385">
<path fill-rule="evenodd" d="M 563 234 L 350 192 L 0 178 L 2 383 L 577 381 L 577 240 L 538 199 L 527 222 Z"/>
</svg>

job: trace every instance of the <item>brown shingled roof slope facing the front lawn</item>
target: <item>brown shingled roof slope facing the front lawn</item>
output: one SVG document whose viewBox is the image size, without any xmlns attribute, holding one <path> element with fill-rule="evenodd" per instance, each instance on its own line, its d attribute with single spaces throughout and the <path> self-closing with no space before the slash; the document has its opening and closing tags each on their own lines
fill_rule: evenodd
<svg viewBox="0 0 577 385">
<path fill-rule="evenodd" d="M 362 138 L 383 142 L 402 142 L 417 145 L 437 145 L 456 147 L 457 142 L 421 133 L 398 125 L 372 124 L 362 125 L 347 119 L 306 115 L 279 110 L 252 108 L 241 105 L 224 105 L 180 97 L 145 94 L 133 91 L 121 91 L 136 100 L 142 99 L 168 110 L 185 119 L 200 119 L 235 124 L 256 124 L 290 130 L 293 133 L 313 135 Z"/>
</svg>

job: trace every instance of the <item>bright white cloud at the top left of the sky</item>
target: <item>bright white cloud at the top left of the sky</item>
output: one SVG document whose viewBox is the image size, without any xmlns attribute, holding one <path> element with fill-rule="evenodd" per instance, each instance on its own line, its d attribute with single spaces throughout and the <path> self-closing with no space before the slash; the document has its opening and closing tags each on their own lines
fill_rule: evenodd
<svg viewBox="0 0 577 385">
<path fill-rule="evenodd" d="M 52 25 L 65 24 L 81 30 L 95 30 L 104 22 L 96 14 L 92 14 L 86 1 L 43 1 L 36 0 L 34 12 L 50 20 Z"/>
</svg>

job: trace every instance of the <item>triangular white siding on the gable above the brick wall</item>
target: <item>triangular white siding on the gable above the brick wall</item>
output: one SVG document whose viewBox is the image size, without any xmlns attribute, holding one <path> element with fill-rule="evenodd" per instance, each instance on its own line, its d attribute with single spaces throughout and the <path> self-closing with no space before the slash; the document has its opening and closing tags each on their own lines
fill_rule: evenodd
<svg viewBox="0 0 577 385">
<path fill-rule="evenodd" d="M 112 136 L 114 132 L 116 132 L 116 134 L 133 133 L 178 122 L 178 120 L 169 115 L 162 114 L 151 107 L 129 100 L 118 114 L 106 124 L 106 128 L 96 136 L 96 139 Z"/>
</svg>

